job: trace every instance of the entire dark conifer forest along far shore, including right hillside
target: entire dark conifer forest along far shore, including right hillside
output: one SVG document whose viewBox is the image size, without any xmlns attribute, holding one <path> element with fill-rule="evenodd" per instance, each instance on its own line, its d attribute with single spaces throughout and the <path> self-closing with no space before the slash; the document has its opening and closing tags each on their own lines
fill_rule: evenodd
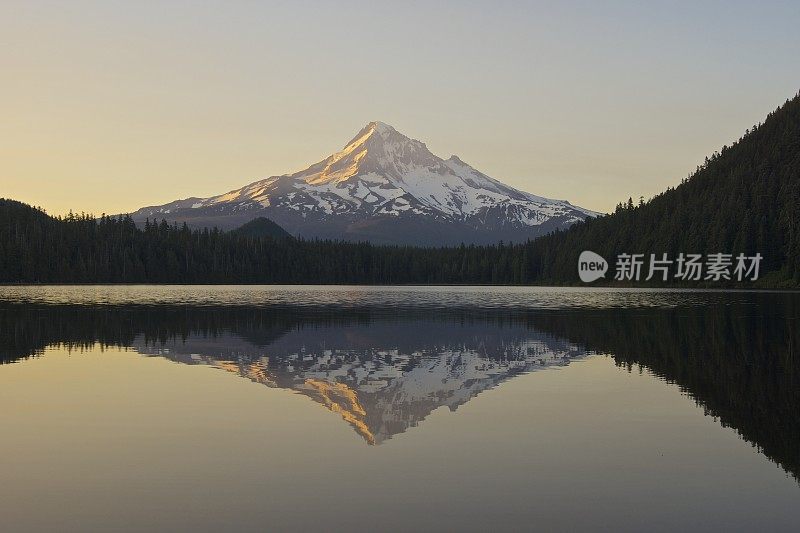
<svg viewBox="0 0 800 533">
<path fill-rule="evenodd" d="M 760 286 L 800 285 L 800 95 L 658 196 L 525 243 L 422 248 L 302 240 L 130 217 L 51 217 L 0 200 L 3 283 L 577 284 L 578 255 L 763 256 Z M 702 283 L 702 282 L 701 282 Z"/>
</svg>

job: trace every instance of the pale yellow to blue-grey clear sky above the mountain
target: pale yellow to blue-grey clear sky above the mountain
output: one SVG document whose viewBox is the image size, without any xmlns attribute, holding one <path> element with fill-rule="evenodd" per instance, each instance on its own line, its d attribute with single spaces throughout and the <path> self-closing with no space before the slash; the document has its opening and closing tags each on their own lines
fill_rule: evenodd
<svg viewBox="0 0 800 533">
<path fill-rule="evenodd" d="M 380 120 L 597 211 L 800 89 L 800 2 L 0 2 L 0 197 L 130 212 Z"/>
</svg>

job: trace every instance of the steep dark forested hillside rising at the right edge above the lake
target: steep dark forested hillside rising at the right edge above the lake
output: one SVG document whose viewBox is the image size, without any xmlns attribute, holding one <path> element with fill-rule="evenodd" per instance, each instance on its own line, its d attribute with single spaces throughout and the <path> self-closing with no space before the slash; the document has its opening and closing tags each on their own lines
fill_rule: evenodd
<svg viewBox="0 0 800 533">
<path fill-rule="evenodd" d="M 574 282 L 578 255 L 586 249 L 609 262 L 621 253 L 760 253 L 762 272 L 771 273 L 768 281 L 796 285 L 800 95 L 707 158 L 679 186 L 648 202 L 630 199 L 610 216 L 537 239 L 528 254 L 529 276 Z"/>
</svg>

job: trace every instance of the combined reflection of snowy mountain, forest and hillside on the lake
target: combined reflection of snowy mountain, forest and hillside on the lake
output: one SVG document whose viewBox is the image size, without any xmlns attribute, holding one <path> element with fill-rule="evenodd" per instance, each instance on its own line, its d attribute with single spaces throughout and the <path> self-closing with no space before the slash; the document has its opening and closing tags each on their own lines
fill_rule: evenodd
<svg viewBox="0 0 800 533">
<path fill-rule="evenodd" d="M 303 394 L 369 444 L 521 373 L 590 353 L 649 370 L 800 474 L 800 298 L 565 310 L 71 306 L 4 302 L 0 360 L 49 346 L 132 348 Z"/>
</svg>

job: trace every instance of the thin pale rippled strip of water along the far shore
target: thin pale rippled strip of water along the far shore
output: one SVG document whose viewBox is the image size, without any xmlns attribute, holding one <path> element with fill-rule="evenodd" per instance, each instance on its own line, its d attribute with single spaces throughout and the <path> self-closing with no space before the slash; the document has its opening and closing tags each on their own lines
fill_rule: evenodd
<svg viewBox="0 0 800 533">
<path fill-rule="evenodd" d="M 384 309 L 616 309 L 731 305 L 777 293 L 684 289 L 487 286 L 30 285 L 0 303 Z"/>
</svg>

